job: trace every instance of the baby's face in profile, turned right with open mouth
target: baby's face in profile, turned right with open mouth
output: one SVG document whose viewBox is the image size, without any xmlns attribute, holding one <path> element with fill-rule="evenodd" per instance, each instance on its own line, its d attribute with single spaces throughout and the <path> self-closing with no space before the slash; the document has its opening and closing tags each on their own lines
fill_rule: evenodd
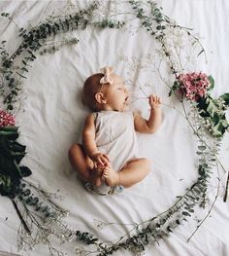
<svg viewBox="0 0 229 256">
<path fill-rule="evenodd" d="M 124 111 L 128 105 L 129 94 L 121 77 L 112 74 L 113 85 L 106 87 L 107 106 L 112 110 Z"/>
</svg>

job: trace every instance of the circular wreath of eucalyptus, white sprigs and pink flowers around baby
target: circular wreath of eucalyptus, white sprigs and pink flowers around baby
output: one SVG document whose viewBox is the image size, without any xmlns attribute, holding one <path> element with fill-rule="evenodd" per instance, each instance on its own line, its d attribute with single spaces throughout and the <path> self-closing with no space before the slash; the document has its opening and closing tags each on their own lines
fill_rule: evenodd
<svg viewBox="0 0 229 256">
<path fill-rule="evenodd" d="M 32 249 L 36 244 L 44 242 L 48 244 L 50 255 L 62 255 L 61 251 L 54 248 L 50 242 L 49 238 L 53 236 L 60 242 L 75 238 L 75 240 L 82 241 L 84 245 L 93 245 L 96 248 L 94 253 L 97 255 L 113 254 L 120 248 L 141 254 L 148 243 L 158 242 L 160 238 L 168 236 L 180 224 L 187 221 L 187 217 L 192 216 L 197 205 L 205 207 L 208 200 L 208 183 L 213 168 L 220 166 L 226 172 L 225 167 L 217 158 L 217 152 L 223 134 L 229 130 L 229 123 L 225 115 L 229 108 L 229 93 L 213 98 L 211 95 L 214 87 L 212 76 L 203 72 L 185 73 L 180 70 L 174 53 L 168 46 L 167 32 L 172 29 L 185 34 L 194 44 L 198 45 L 200 52 L 197 56 L 205 55 L 205 50 L 199 39 L 192 35 L 191 29 L 182 27 L 165 16 L 162 13 L 162 8 L 158 7 L 154 1 L 147 1 L 147 4 L 141 1 L 129 1 L 129 5 L 133 10 L 131 15 L 140 20 L 141 28 L 146 29 L 158 42 L 162 55 L 174 75 L 174 83 L 169 85 L 169 96 L 173 95 L 180 100 L 184 118 L 198 138 L 198 179 L 186 189 L 182 196 L 177 197 L 177 201 L 168 210 L 142 223 L 135 224 L 132 230 L 117 239 L 115 243 L 100 241 L 92 234 L 76 231 L 67 225 L 63 218 L 67 216 L 68 212 L 52 201 L 52 198 L 58 197 L 57 194 L 50 194 L 26 180 L 32 171 L 28 166 L 20 165 L 26 155 L 26 147 L 17 142 L 19 132 L 12 113 L 18 107 L 19 95 L 22 91 L 21 79 L 26 79 L 26 75 L 29 73 L 29 62 L 36 59 L 36 54 L 54 53 L 63 45 L 79 43 L 78 39 L 72 38 L 60 45 L 53 43 L 53 46 L 47 48 L 45 42 L 50 36 L 65 33 L 70 29 L 85 29 L 89 25 L 99 29 L 120 28 L 126 26 L 127 22 L 94 16 L 100 6 L 100 3 L 95 1 L 90 3 L 86 9 L 48 18 L 30 30 L 18 28 L 21 44 L 16 52 L 12 55 L 8 53 L 6 41 L 2 41 L 0 47 L 0 75 L 3 78 L 1 97 L 5 106 L 5 109 L 0 110 L 0 194 L 13 202 L 16 214 L 21 221 L 17 237 L 18 249 Z M 9 13 L 2 13 L 1 16 L 14 22 Z M 16 66 L 19 56 L 22 56 L 20 66 Z M 190 105 L 192 119 L 187 115 L 184 101 Z M 192 122 L 193 119 L 194 122 Z M 211 145 L 208 143 L 210 140 L 212 141 Z M 220 179 L 218 179 L 218 188 L 219 183 Z M 227 189 L 224 201 L 226 201 L 226 195 Z M 216 199 L 217 197 L 213 204 Z M 21 207 L 23 210 L 20 209 Z M 200 221 L 195 232 L 208 218 L 210 212 Z M 107 225 L 100 221 L 96 224 L 98 227 Z M 78 248 L 76 253 L 85 255 L 86 247 Z"/>
</svg>

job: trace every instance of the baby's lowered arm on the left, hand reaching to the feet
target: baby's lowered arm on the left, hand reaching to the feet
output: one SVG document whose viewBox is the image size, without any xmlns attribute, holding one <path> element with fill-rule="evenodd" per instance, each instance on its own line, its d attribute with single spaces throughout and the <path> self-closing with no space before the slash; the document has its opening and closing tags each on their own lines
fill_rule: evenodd
<svg viewBox="0 0 229 256">
<path fill-rule="evenodd" d="M 82 145 L 86 155 L 96 164 L 107 165 L 109 158 L 106 154 L 99 152 L 95 143 L 94 116 L 90 114 L 86 117 L 82 130 Z"/>
</svg>

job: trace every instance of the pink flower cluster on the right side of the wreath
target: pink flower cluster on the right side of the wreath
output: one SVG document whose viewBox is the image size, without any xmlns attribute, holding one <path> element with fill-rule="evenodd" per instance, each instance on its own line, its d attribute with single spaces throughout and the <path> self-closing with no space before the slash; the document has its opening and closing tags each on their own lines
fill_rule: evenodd
<svg viewBox="0 0 229 256">
<path fill-rule="evenodd" d="M 208 76 L 202 72 L 180 74 L 178 79 L 180 82 L 179 91 L 190 100 L 196 101 L 200 97 L 204 97 L 210 87 Z"/>
</svg>

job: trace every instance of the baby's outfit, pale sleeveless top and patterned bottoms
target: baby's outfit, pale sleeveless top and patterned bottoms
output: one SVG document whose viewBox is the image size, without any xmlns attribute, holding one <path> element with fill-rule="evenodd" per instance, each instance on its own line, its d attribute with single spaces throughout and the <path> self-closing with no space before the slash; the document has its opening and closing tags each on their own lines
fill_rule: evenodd
<svg viewBox="0 0 229 256">
<path fill-rule="evenodd" d="M 95 141 L 99 152 L 107 154 L 115 171 L 119 171 L 128 161 L 138 157 L 138 142 L 134 128 L 134 117 L 130 111 L 100 111 L 95 118 Z M 119 187 L 119 186 L 118 186 Z M 88 185 L 87 185 L 88 189 Z M 114 188 L 103 184 L 91 188 L 100 195 L 115 194 Z"/>
</svg>

